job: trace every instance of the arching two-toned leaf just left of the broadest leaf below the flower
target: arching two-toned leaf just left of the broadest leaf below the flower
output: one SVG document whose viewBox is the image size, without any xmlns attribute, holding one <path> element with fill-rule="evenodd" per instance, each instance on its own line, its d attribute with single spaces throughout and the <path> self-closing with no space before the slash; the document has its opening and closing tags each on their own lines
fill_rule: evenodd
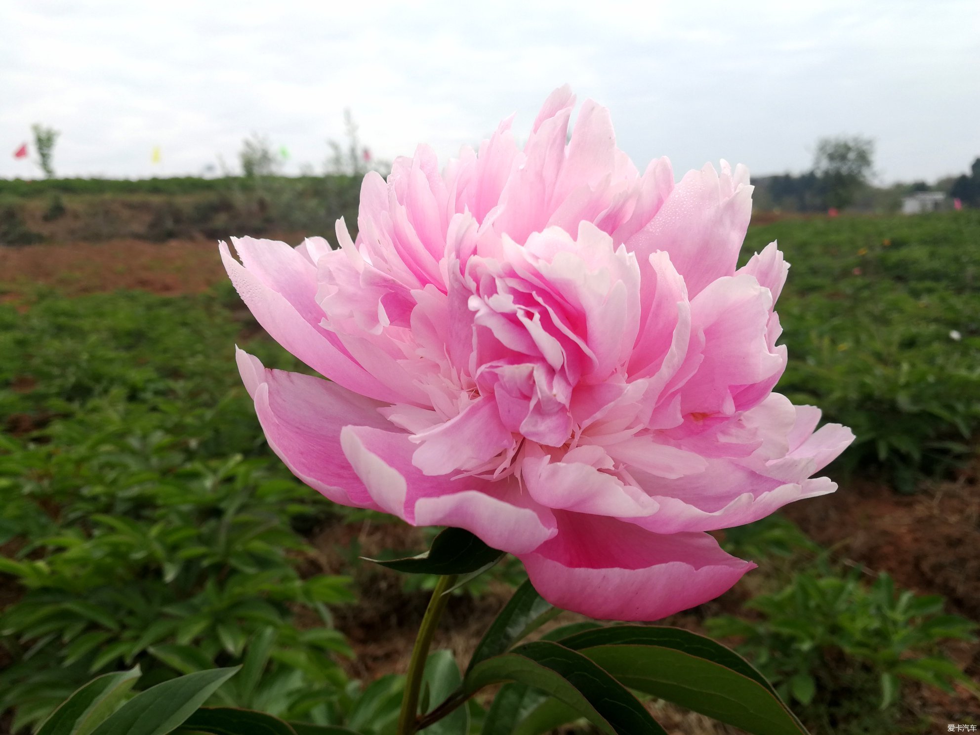
<svg viewBox="0 0 980 735">
<path fill-rule="evenodd" d="M 581 654 L 548 641 L 525 643 L 479 662 L 464 691 L 515 681 L 539 689 L 581 713 L 608 735 L 666 735 L 643 705 L 609 673 Z"/>
</svg>

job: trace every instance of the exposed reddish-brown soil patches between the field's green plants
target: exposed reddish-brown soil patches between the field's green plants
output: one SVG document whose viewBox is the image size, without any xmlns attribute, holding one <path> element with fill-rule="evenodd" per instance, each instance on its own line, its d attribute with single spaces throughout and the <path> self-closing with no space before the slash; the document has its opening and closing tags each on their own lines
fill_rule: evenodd
<svg viewBox="0 0 980 735">
<path fill-rule="evenodd" d="M 300 237 L 286 234 L 295 244 Z M 224 270 L 212 240 L 110 240 L 0 248 L 0 301 L 18 301 L 33 288 L 63 293 L 137 288 L 177 296 L 205 290 L 223 281 Z M 788 507 L 785 511 L 814 541 L 867 570 L 887 571 L 919 594 L 940 594 L 951 612 L 980 620 L 980 459 L 956 477 L 936 481 L 915 495 L 903 496 L 885 484 L 856 480 L 837 493 Z M 416 529 L 403 524 L 329 525 L 312 539 L 324 570 L 350 573 L 342 550 L 357 539 L 362 553 L 384 549 L 421 549 Z M 757 572 L 758 573 L 758 572 Z M 352 675 L 371 678 L 403 672 L 408 665 L 417 624 L 427 602 L 424 592 L 405 592 L 399 575 L 363 564 L 357 581 L 362 601 L 337 613 L 337 625 L 349 637 L 357 658 Z M 693 613 L 668 622 L 699 629 L 709 614 L 734 613 L 744 602 L 743 586 Z M 509 589 L 491 588 L 479 599 L 454 597 L 436 636 L 436 647 L 453 650 L 461 661 L 472 652 L 483 630 L 500 611 Z M 571 618 L 573 619 L 573 618 Z M 564 622 L 561 618 L 554 624 Z M 311 621 L 311 624 L 313 621 Z M 949 653 L 980 681 L 980 646 L 956 644 Z M 928 716 L 934 731 L 951 722 L 980 720 L 980 703 L 965 690 L 946 695 L 909 685 L 909 710 Z M 659 711 L 664 727 L 676 735 L 724 735 L 725 728 L 699 715 Z"/>
</svg>

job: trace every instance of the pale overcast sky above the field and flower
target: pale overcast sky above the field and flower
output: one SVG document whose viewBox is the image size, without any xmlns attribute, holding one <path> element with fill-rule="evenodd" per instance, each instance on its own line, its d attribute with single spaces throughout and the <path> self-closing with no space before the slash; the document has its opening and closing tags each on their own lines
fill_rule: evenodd
<svg viewBox="0 0 980 735">
<path fill-rule="evenodd" d="M 932 180 L 980 156 L 980 2 L 0 0 L 0 176 L 36 175 L 35 122 L 60 175 L 237 167 L 252 132 L 320 171 L 344 108 L 376 157 L 445 160 L 564 82 L 641 170 L 803 172 L 848 133 L 879 180 Z"/>
</svg>

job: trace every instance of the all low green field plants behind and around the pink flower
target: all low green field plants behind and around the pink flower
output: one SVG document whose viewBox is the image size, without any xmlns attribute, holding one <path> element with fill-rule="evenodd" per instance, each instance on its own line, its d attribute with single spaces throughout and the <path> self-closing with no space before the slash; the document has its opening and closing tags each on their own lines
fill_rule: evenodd
<svg viewBox="0 0 980 735">
<path fill-rule="evenodd" d="M 190 181 L 165 193 L 213 191 Z M 980 429 L 980 213 L 777 221 L 750 229 L 746 258 L 773 239 L 792 264 L 778 308 L 791 360 L 779 390 L 858 435 L 830 473 L 884 478 L 899 492 L 949 475 Z M 249 336 L 254 324 L 226 284 L 198 296 L 68 298 L 15 294 L 6 276 L 0 730 L 28 732 L 99 673 L 138 663 L 145 688 L 242 663 L 213 703 L 359 731 L 370 721 L 380 729 L 363 732 L 383 735 L 377 712 L 394 716 L 401 679 L 363 689 L 345 674 L 357 652 L 333 619 L 369 593 L 327 573 L 310 538 L 328 516 L 365 515 L 331 507 L 270 452 L 233 345 L 302 368 Z M 726 543 L 760 562 L 759 594 L 747 607 L 736 597 L 710 624 L 757 659 L 814 733 L 930 731 L 903 704 L 907 682 L 961 681 L 944 646 L 970 639 L 973 622 L 887 577 L 845 571 L 778 517 Z M 522 578 L 514 564 L 491 574 Z M 467 594 L 486 590 L 482 578 Z M 816 693 L 828 687 L 833 701 Z M 878 711 L 863 729 L 841 724 Z M 477 705 L 471 714 L 476 733 Z"/>
</svg>

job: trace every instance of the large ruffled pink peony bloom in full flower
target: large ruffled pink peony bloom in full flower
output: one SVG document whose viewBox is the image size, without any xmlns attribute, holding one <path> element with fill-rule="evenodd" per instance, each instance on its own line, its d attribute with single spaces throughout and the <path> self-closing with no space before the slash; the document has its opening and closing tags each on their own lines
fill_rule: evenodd
<svg viewBox="0 0 980 735">
<path fill-rule="evenodd" d="M 555 91 L 439 171 L 424 146 L 368 173 L 359 234 L 221 257 L 271 336 L 329 378 L 238 365 L 270 446 L 330 500 L 466 528 L 553 604 L 654 620 L 755 564 L 707 531 L 832 492 L 853 440 L 772 388 L 786 366 L 771 243 L 736 268 L 744 167 L 675 184 Z M 567 140 L 567 143 L 566 143 Z"/>
</svg>

